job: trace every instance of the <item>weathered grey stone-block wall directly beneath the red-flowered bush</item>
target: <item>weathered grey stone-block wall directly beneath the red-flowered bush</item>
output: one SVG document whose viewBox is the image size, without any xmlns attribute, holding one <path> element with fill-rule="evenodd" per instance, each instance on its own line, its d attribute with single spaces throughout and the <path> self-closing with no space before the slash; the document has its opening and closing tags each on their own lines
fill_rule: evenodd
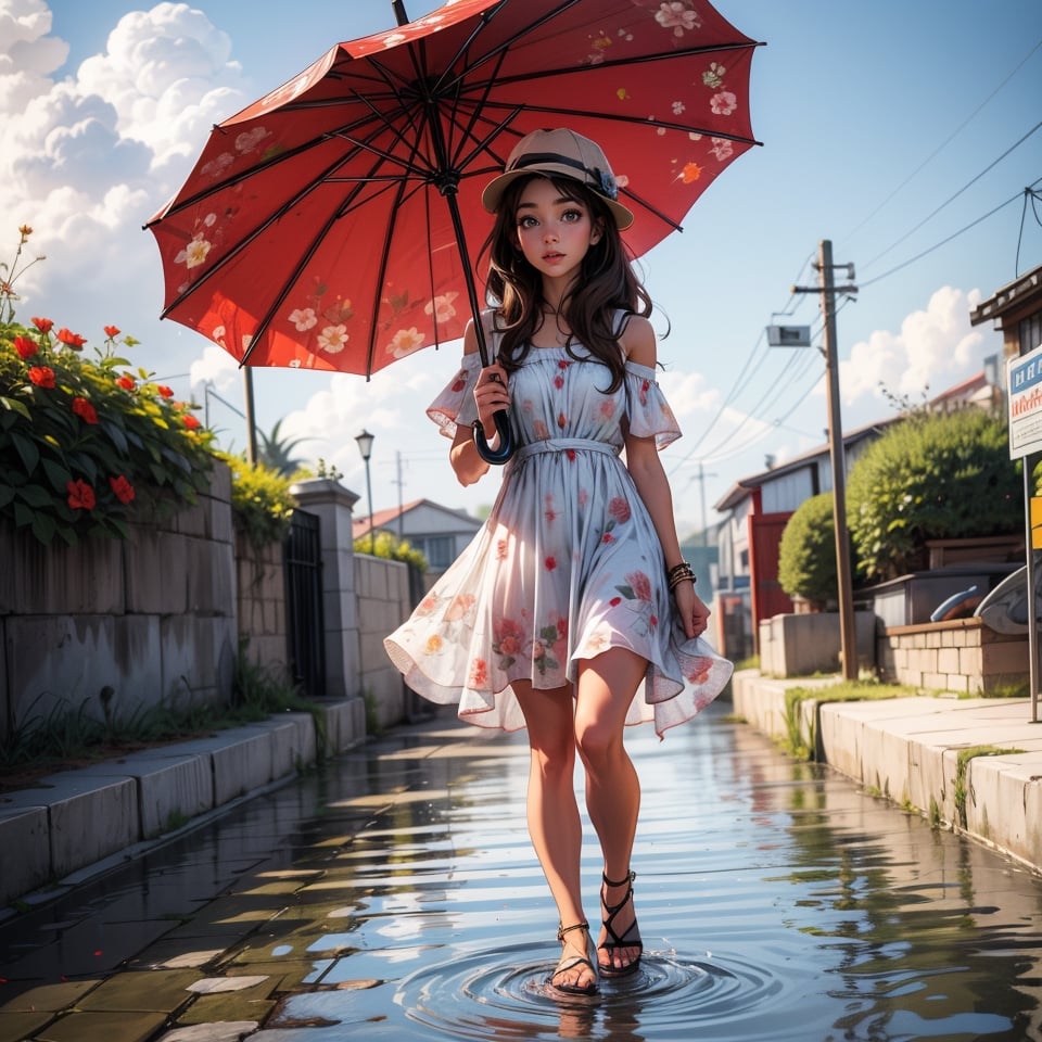
<svg viewBox="0 0 1042 1042">
<path fill-rule="evenodd" d="M 228 697 L 238 645 L 231 476 L 126 541 L 0 525 L 0 730 Z"/>
</svg>

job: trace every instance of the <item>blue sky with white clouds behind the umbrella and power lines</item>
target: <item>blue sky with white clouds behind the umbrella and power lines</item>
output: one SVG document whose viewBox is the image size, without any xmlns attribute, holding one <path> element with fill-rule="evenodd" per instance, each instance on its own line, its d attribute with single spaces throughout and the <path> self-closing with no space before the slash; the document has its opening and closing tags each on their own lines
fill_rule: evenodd
<svg viewBox="0 0 1042 1042">
<path fill-rule="evenodd" d="M 437 3 L 406 7 L 418 17 Z M 854 263 L 861 288 L 838 316 L 848 428 L 891 415 L 887 393 L 918 401 L 978 372 L 1000 343 L 970 328 L 969 309 L 1042 263 L 1042 229 L 1022 199 L 1042 188 L 1037 0 L 716 7 L 766 41 L 752 69 L 764 145 L 643 260 L 671 327 L 662 385 L 685 437 L 664 462 L 682 532 L 700 525 L 703 497 L 712 522 L 712 504 L 765 456 L 783 461 L 824 441 L 819 354 L 768 350 L 763 336 L 775 313 L 819 328 L 817 297 L 789 288 L 816 283 L 809 262 L 821 239 Z M 24 223 L 47 254 L 20 281 L 21 317 L 47 314 L 94 342 L 118 325 L 142 341 L 134 360 L 206 397 L 226 443 L 242 448 L 241 376 L 198 334 L 158 321 L 158 256 L 141 226 L 212 123 L 338 40 L 393 21 L 390 0 L 0 0 L 0 257 Z M 457 360 L 453 347 L 429 352 L 369 383 L 256 370 L 258 423 L 269 431 L 284 417 L 283 433 L 309 439 L 300 454 L 334 463 L 356 492 L 354 435 L 366 427 L 377 510 L 420 497 L 473 510 L 494 499 L 496 479 L 459 487 L 447 443 L 423 417 Z"/>
</svg>

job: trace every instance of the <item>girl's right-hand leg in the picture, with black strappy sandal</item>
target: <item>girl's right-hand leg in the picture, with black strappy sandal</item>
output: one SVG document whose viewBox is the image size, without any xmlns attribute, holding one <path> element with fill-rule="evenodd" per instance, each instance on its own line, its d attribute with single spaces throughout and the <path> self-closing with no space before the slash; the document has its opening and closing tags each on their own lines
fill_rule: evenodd
<svg viewBox="0 0 1042 1042">
<path fill-rule="evenodd" d="M 605 906 L 622 902 L 630 886 L 640 782 L 623 746 L 623 730 L 626 712 L 646 670 L 647 660 L 625 648 L 612 648 L 580 666 L 575 739 L 586 768 L 586 809 L 600 839 L 605 877 L 622 882 L 619 887 L 601 889 Z M 612 926 L 619 937 L 626 937 L 635 923 L 636 912 L 631 902 L 620 910 Z M 636 939 L 636 930 L 632 936 Z M 618 948 L 609 954 L 600 945 L 610 940 L 608 931 L 601 928 L 597 941 L 601 966 L 622 970 L 639 958 L 640 949 L 636 944 Z"/>
</svg>

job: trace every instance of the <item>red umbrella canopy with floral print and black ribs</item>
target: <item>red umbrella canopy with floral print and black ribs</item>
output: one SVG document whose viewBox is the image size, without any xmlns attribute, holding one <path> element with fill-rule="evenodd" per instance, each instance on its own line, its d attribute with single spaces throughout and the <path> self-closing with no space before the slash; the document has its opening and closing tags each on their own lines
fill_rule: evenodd
<svg viewBox="0 0 1042 1042">
<path fill-rule="evenodd" d="M 703 0 L 450 0 L 340 43 L 215 127 L 148 224 L 163 317 L 251 366 L 365 376 L 458 340 L 520 137 L 601 144 L 638 256 L 757 143 L 757 46 Z"/>
</svg>

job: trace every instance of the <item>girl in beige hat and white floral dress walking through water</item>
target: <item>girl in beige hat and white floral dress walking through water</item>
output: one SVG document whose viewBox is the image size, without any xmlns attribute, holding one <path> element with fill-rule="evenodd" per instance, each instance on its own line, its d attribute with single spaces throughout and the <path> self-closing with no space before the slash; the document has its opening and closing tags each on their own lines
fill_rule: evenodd
<svg viewBox="0 0 1042 1042">
<path fill-rule="evenodd" d="M 592 994 L 598 974 L 637 969 L 643 952 L 630 857 L 640 787 L 627 723 L 689 720 L 726 684 L 730 663 L 700 638 L 709 609 L 682 559 L 658 449 L 679 429 L 658 385 L 650 300 L 620 231 L 600 148 L 571 130 L 522 138 L 482 201 L 493 363 L 473 323 L 463 363 L 428 410 L 452 436 L 459 481 L 488 465 L 472 424 L 496 444 L 511 409 L 520 446 L 492 513 L 412 617 L 385 641 L 406 683 L 461 719 L 528 727 L 528 821 L 560 916 L 550 987 Z M 625 452 L 625 463 L 620 454 Z M 575 754 L 603 853 L 596 954 L 580 887 Z"/>
</svg>

